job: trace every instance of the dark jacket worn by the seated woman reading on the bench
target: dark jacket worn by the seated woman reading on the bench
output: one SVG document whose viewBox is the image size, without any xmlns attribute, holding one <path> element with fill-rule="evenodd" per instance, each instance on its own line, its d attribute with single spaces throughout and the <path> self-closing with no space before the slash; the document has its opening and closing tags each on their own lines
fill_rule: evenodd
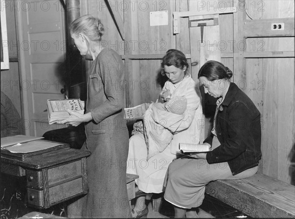
<svg viewBox="0 0 295 219">
<path fill-rule="evenodd" d="M 220 146 L 207 153 L 208 163 L 228 162 L 236 175 L 261 159 L 260 112 L 235 83 L 231 83 L 216 115 Z M 213 134 L 205 142 L 212 144 Z"/>
</svg>

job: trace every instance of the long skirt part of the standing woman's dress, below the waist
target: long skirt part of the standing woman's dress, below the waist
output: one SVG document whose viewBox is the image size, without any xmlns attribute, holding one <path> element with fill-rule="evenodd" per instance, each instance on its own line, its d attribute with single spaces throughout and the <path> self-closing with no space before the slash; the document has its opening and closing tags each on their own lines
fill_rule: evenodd
<svg viewBox="0 0 295 219">
<path fill-rule="evenodd" d="M 88 128 L 88 127 L 87 127 Z M 68 206 L 71 218 L 131 218 L 126 187 L 126 128 L 87 132 L 88 194 Z"/>
</svg>

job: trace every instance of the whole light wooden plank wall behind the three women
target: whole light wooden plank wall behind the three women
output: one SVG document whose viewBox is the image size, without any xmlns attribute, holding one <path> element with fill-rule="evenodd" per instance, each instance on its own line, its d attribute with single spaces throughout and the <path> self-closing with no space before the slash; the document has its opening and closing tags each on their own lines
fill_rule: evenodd
<svg viewBox="0 0 295 219">
<path fill-rule="evenodd" d="M 168 49 L 177 48 L 184 54 L 194 53 L 189 62 L 200 62 L 200 48 L 192 46 L 194 43 L 191 42 L 193 39 L 200 39 L 200 31 L 190 33 L 188 18 L 180 19 L 180 34 L 173 35 L 172 13 L 187 11 L 190 0 L 110 0 L 111 8 L 117 10 L 124 21 L 124 42 L 104 0 L 80 2 L 81 14 L 101 18 L 106 27 L 103 40 L 107 41 L 108 47 L 125 57 L 128 77 L 127 107 L 157 99 L 161 83 L 165 81 L 165 77 L 159 74 L 160 57 Z M 294 0 L 245 2 L 253 19 L 294 17 Z M 218 5 L 237 6 L 237 9 L 240 6 L 236 0 L 219 0 Z M 149 12 L 160 10 L 168 10 L 168 25 L 150 27 Z M 262 114 L 263 160 L 259 171 L 294 184 L 294 58 L 238 58 L 244 51 L 294 51 L 294 37 L 247 38 L 247 46 L 243 49 L 243 19 L 245 18 L 237 13 L 220 14 L 220 41 L 216 42 L 215 47 L 220 50 L 221 62 L 233 70 L 235 83 L 249 95 Z M 233 43 L 235 40 L 236 43 Z M 151 58 L 150 54 L 157 58 Z M 141 59 L 136 58 L 139 55 Z M 197 78 L 199 69 L 200 65 L 191 68 L 194 79 Z"/>
</svg>

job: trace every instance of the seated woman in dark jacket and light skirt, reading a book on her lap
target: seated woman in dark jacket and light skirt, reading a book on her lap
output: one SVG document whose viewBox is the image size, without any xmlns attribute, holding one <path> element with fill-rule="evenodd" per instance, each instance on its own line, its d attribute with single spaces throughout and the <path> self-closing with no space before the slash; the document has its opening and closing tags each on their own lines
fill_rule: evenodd
<svg viewBox="0 0 295 219">
<path fill-rule="evenodd" d="M 164 198 L 175 208 L 175 218 L 197 217 L 205 197 L 205 186 L 215 180 L 253 176 L 261 159 L 260 112 L 235 83 L 233 73 L 217 61 L 208 61 L 199 71 L 205 93 L 217 98 L 207 153 L 196 153 L 173 161 L 168 168 Z"/>
</svg>

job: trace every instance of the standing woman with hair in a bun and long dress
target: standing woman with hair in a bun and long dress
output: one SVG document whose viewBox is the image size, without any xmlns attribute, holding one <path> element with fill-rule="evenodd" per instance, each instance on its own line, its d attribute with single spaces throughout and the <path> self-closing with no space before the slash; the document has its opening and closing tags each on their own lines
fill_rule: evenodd
<svg viewBox="0 0 295 219">
<path fill-rule="evenodd" d="M 68 206 L 72 218 L 131 218 L 126 188 L 128 130 L 123 120 L 124 89 L 114 84 L 125 78 L 124 64 L 111 49 L 102 48 L 100 20 L 84 15 L 72 22 L 70 34 L 81 55 L 91 55 L 86 113 L 68 110 L 63 123 L 85 123 L 88 194 Z"/>
</svg>

